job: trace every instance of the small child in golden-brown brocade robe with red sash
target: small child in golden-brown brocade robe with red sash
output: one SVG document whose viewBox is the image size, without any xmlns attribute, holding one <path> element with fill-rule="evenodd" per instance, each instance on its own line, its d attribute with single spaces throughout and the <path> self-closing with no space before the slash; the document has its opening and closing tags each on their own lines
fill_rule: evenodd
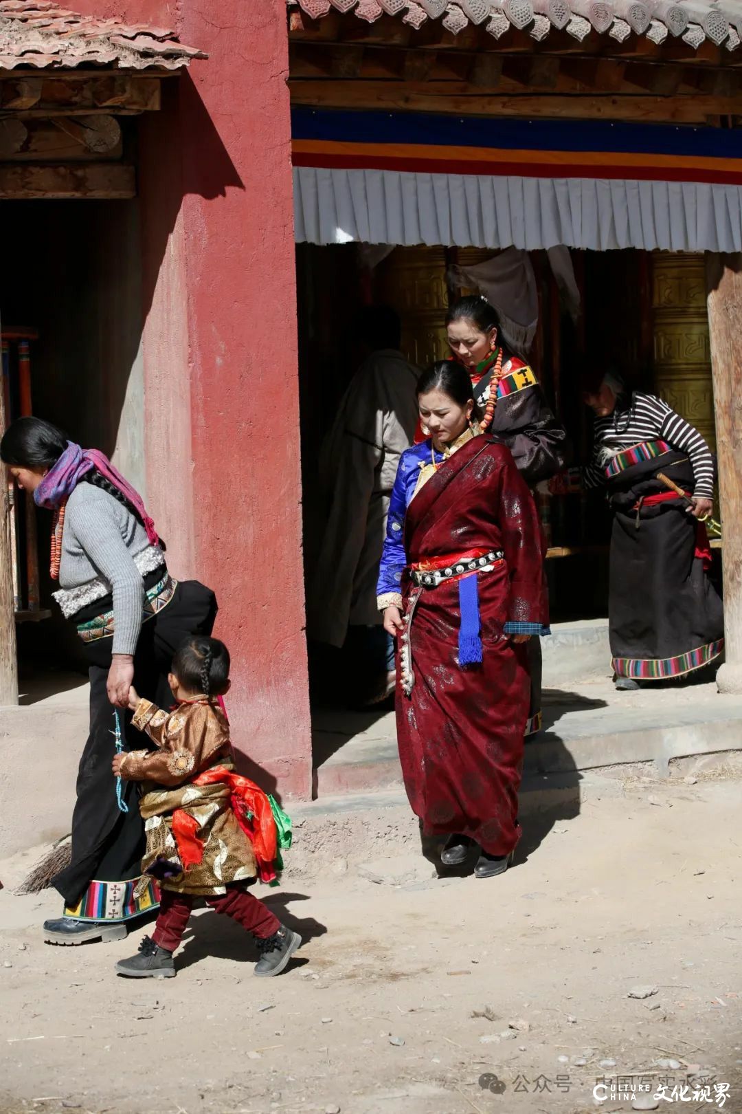
<svg viewBox="0 0 742 1114">
<path fill-rule="evenodd" d="M 113 773 L 144 783 L 142 876 L 158 880 L 161 900 L 151 938 L 144 938 L 138 955 L 116 965 L 119 975 L 174 977 L 172 952 L 197 897 L 253 934 L 260 951 L 256 975 L 280 974 L 301 944 L 247 889 L 258 874 L 263 881 L 276 877 L 276 822 L 265 793 L 234 771 L 229 725 L 218 700 L 229 688 L 228 678 L 224 643 L 195 637 L 178 651 L 168 678 L 175 711 L 130 691 L 133 725 L 157 750 L 117 754 Z"/>
</svg>

